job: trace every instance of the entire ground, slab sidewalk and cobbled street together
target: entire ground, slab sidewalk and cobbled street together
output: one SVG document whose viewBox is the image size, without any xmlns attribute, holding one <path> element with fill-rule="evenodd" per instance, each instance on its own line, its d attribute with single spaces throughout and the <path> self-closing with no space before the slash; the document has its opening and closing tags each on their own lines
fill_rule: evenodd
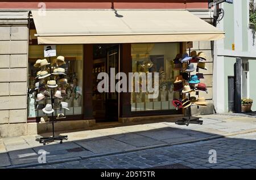
<svg viewBox="0 0 256 180">
<path fill-rule="evenodd" d="M 44 168 L 150 168 L 174 163 L 191 168 L 246 168 L 246 165 L 254 168 L 255 139 L 250 133 L 256 132 L 256 118 L 200 117 L 203 125 L 178 126 L 166 119 L 158 123 L 65 132 L 69 139 L 63 144 L 45 146 L 35 140 L 38 135 L 3 138 L 0 139 L 0 167 L 40 168 L 38 152 L 44 150 L 49 152 L 46 162 L 51 164 Z M 242 136 L 246 138 L 241 139 Z M 208 161 L 210 149 L 217 152 L 217 164 Z"/>
</svg>

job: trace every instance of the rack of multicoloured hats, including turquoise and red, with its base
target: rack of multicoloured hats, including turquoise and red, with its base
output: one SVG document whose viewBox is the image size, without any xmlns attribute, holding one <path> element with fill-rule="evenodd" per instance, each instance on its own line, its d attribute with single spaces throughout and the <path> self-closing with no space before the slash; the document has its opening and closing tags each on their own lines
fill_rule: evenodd
<svg viewBox="0 0 256 180">
<path fill-rule="evenodd" d="M 195 53 L 195 52 L 194 52 Z M 191 58 L 191 56 L 193 58 Z M 196 59 L 196 60 L 195 60 Z M 199 55 L 197 54 L 191 54 L 191 49 L 189 48 L 189 55 L 183 55 L 183 57 L 181 58 L 181 63 L 187 63 L 187 74 L 188 77 L 185 80 L 188 81 L 188 83 L 184 84 L 183 87 L 183 101 L 180 102 L 179 108 L 183 108 L 185 110 L 187 110 L 188 116 L 187 117 L 183 117 L 183 119 L 179 119 L 177 120 L 175 123 L 176 125 L 186 125 L 188 126 L 189 124 L 198 124 L 198 125 L 203 125 L 203 121 L 199 120 L 198 117 L 192 117 L 192 113 L 191 113 L 191 106 L 192 105 L 196 105 L 197 108 L 199 108 L 199 106 L 204 106 L 207 107 L 207 105 L 205 105 L 205 100 L 203 97 L 199 97 L 199 91 L 204 91 L 204 89 L 197 89 L 195 87 L 195 84 L 199 84 L 200 80 L 198 79 L 199 77 L 197 77 L 197 75 L 191 75 L 191 72 L 195 71 L 199 72 L 199 68 L 204 68 L 205 70 L 207 70 L 207 68 L 204 67 L 204 62 L 206 60 L 206 57 L 204 56 L 203 58 L 199 58 Z M 199 65 L 198 62 L 200 62 L 201 64 Z M 197 67 L 193 67 L 193 63 L 197 63 Z M 181 72 L 184 74 L 184 69 L 181 68 Z M 203 74 L 200 74 L 203 75 Z M 203 83 L 202 83 L 203 84 Z M 196 91 L 199 90 L 199 91 Z M 196 95 L 198 96 L 198 99 L 196 100 L 196 97 L 191 97 L 191 92 L 196 91 Z M 207 92 L 207 89 L 205 88 L 205 92 Z M 176 104 L 176 103 L 175 103 Z M 175 105 L 174 104 L 174 105 Z M 182 105 L 181 105 L 182 104 Z M 176 109 L 179 109 L 177 105 Z"/>
</svg>

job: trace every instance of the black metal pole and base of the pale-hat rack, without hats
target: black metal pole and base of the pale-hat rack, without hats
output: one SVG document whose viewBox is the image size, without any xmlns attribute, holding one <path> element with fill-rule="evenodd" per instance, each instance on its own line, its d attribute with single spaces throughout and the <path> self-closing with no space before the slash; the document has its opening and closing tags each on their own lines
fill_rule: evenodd
<svg viewBox="0 0 256 180">
<path fill-rule="evenodd" d="M 51 57 L 49 57 L 49 63 L 51 63 Z M 52 68 L 49 68 L 50 73 L 52 73 Z M 51 80 L 53 80 L 53 78 L 51 77 Z M 52 88 L 51 88 L 51 104 L 52 104 L 52 108 L 53 108 L 53 104 L 54 104 L 54 98 L 53 98 L 53 92 L 52 92 Z M 53 112 L 54 113 L 54 112 Z M 52 143 L 55 140 L 60 140 L 60 144 L 63 143 L 63 140 L 67 140 L 68 136 L 55 136 L 55 129 L 54 129 L 54 115 L 52 113 L 52 136 L 50 137 L 46 137 L 46 138 L 40 138 L 39 143 L 43 143 L 43 145 L 46 145 L 46 143 Z"/>
</svg>

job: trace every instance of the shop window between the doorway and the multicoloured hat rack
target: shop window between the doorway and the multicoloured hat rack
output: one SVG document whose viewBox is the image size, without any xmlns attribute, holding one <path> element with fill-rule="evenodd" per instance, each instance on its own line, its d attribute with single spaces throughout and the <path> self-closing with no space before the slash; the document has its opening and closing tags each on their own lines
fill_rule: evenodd
<svg viewBox="0 0 256 180">
<path fill-rule="evenodd" d="M 148 98 L 149 92 L 142 92 L 141 89 L 140 92 L 131 92 L 132 112 L 175 109 L 172 100 L 179 98 L 180 95 L 179 92 L 174 92 L 174 81 L 175 77 L 179 75 L 179 71 L 173 70 L 173 59 L 179 52 L 180 44 L 178 42 L 131 45 L 133 72 L 139 74 L 141 72 L 159 73 L 158 97 Z M 151 65 L 145 66 L 145 64 Z M 154 74 L 152 76 L 154 77 Z M 154 82 L 154 78 L 152 81 Z"/>
</svg>

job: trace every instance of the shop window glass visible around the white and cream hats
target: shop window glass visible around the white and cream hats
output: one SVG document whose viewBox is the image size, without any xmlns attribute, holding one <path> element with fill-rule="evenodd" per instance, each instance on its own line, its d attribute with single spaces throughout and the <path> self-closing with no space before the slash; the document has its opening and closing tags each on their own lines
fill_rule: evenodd
<svg viewBox="0 0 256 180">
<path fill-rule="evenodd" d="M 83 72 L 83 46 L 82 45 L 56 45 L 56 55 L 63 56 L 65 58 L 65 64 L 59 66 L 64 68 L 65 74 L 62 77 L 56 76 L 59 86 L 53 90 L 61 92 L 61 99 L 55 98 L 53 106 L 55 106 L 55 115 L 59 114 L 59 103 L 68 102 L 68 109 L 65 110 L 65 115 L 79 115 L 82 114 L 82 72 Z M 36 101 L 38 93 L 48 91 L 46 88 L 47 80 L 50 77 L 44 79 L 36 78 L 40 67 L 34 67 L 34 64 L 38 59 L 47 59 L 48 62 L 54 61 L 57 57 L 44 58 L 44 46 L 43 45 L 30 45 L 28 52 L 28 118 L 43 117 L 42 109 L 38 108 L 39 104 L 51 104 L 50 98 L 44 98 L 42 101 Z M 48 67 L 47 67 L 47 70 Z M 60 80 L 62 79 L 62 80 Z M 65 82 L 67 79 L 67 82 Z M 35 83 L 40 82 L 44 84 L 43 88 L 35 90 Z M 53 107 L 54 108 L 54 107 Z M 63 111 L 62 111 L 63 112 Z"/>
</svg>

